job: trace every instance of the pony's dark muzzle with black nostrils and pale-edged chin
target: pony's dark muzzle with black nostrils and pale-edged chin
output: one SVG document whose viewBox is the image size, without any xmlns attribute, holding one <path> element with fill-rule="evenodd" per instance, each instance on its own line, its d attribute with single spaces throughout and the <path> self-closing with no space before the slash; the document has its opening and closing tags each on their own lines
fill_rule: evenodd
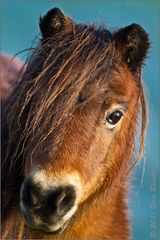
<svg viewBox="0 0 160 240">
<path fill-rule="evenodd" d="M 58 234 L 68 225 L 77 210 L 77 191 L 74 185 L 53 185 L 44 188 L 33 177 L 21 187 L 20 207 L 25 223 L 45 232 Z"/>
</svg>

